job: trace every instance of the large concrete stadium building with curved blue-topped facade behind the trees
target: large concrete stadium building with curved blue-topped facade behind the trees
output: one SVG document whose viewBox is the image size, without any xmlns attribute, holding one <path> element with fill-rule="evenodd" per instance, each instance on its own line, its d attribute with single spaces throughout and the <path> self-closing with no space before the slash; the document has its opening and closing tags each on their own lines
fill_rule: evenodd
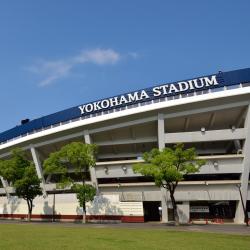
<svg viewBox="0 0 250 250">
<path fill-rule="evenodd" d="M 43 197 L 33 218 L 77 220 L 81 209 L 58 175 L 44 175 L 43 161 L 73 141 L 98 145 L 89 183 L 98 189 L 88 205 L 89 220 L 144 222 L 172 220 L 169 194 L 132 165 L 152 148 L 183 142 L 206 160 L 185 176 L 175 197 L 181 221 L 223 219 L 244 222 L 250 212 L 250 68 L 166 83 L 24 120 L 0 134 L 0 158 L 21 147 L 33 159 Z M 69 169 L 69 175 L 77 181 Z M 0 217 L 26 217 L 27 207 L 1 178 Z"/>
</svg>

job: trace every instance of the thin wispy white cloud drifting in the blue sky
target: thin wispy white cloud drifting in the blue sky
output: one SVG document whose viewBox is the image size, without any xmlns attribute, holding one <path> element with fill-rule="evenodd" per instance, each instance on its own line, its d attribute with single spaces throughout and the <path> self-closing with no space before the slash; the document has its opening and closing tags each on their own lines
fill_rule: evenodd
<svg viewBox="0 0 250 250">
<path fill-rule="evenodd" d="M 116 64 L 121 55 L 113 49 L 93 49 L 81 51 L 78 55 L 55 61 L 40 60 L 26 70 L 40 75 L 42 80 L 39 86 L 50 85 L 53 82 L 67 77 L 72 73 L 75 66 L 85 63 L 97 65 Z"/>
</svg>

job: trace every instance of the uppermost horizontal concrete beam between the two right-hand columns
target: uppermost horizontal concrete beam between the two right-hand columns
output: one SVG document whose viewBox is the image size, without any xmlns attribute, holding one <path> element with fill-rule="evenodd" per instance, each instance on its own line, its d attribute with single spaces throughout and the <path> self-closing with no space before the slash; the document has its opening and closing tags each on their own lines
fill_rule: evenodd
<svg viewBox="0 0 250 250">
<path fill-rule="evenodd" d="M 208 130 L 202 133 L 184 132 L 184 133 L 166 133 L 165 143 L 188 143 L 188 142 L 207 142 L 207 141 L 230 141 L 237 139 L 244 139 L 246 137 L 246 130 L 239 128 L 234 131 L 231 129 Z"/>
</svg>

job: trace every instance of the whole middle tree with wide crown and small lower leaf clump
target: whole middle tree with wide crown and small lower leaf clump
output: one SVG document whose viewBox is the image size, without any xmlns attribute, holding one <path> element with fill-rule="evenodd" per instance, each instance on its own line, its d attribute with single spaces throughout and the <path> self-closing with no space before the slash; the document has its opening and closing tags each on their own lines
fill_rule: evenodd
<svg viewBox="0 0 250 250">
<path fill-rule="evenodd" d="M 51 153 L 44 161 L 46 174 L 60 174 L 58 185 L 71 186 L 76 193 L 80 206 L 83 208 L 83 223 L 86 223 L 86 203 L 93 201 L 96 189 L 86 184 L 89 169 L 95 165 L 97 147 L 94 144 L 72 142 L 63 146 L 59 151 Z M 68 175 L 68 169 L 73 168 L 76 175 L 80 176 L 81 184 L 75 183 Z"/>
</svg>

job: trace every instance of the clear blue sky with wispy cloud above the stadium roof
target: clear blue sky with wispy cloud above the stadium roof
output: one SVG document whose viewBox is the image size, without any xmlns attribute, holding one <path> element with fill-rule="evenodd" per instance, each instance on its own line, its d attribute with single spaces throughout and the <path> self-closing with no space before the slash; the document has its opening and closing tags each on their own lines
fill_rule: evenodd
<svg viewBox="0 0 250 250">
<path fill-rule="evenodd" d="M 0 1 L 0 131 L 158 83 L 250 67 L 250 1 Z"/>
</svg>

